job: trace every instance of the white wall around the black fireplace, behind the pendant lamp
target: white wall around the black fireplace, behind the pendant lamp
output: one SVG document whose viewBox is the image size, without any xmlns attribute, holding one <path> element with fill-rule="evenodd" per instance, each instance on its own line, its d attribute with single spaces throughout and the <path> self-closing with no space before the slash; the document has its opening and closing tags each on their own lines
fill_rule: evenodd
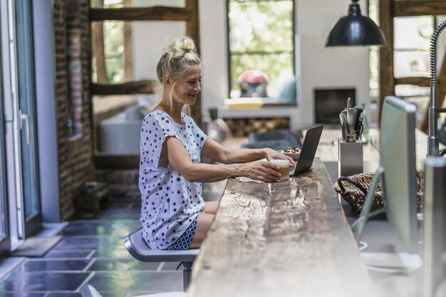
<svg viewBox="0 0 446 297">
<path fill-rule="evenodd" d="M 336 1 L 337 3 L 333 3 Z M 364 1 L 360 2 L 365 11 Z M 315 88 L 356 88 L 356 103 L 369 101 L 369 60 L 366 47 L 324 46 L 333 21 L 345 16 L 348 1 L 298 0 L 297 49 L 301 59 L 301 123 L 314 123 Z"/>
</svg>

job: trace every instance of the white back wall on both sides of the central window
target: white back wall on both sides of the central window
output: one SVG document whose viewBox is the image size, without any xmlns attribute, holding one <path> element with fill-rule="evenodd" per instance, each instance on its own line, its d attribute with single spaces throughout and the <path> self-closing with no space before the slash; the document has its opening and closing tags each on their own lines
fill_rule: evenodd
<svg viewBox="0 0 446 297">
<path fill-rule="evenodd" d="M 368 48 L 325 48 L 333 21 L 348 11 L 345 0 L 296 1 L 296 76 L 301 78 L 297 126 L 312 125 L 314 88 L 356 88 L 357 103 L 368 102 Z M 364 1 L 360 1 L 365 11 Z M 218 108 L 228 93 L 226 0 L 201 0 L 200 38 L 203 64 L 202 108 Z M 294 127 L 294 128 L 296 128 Z"/>
</svg>

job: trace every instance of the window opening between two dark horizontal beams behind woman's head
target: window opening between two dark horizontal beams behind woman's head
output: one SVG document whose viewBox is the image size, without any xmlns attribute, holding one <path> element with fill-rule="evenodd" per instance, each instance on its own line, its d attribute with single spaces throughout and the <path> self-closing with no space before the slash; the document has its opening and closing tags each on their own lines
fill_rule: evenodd
<svg viewBox="0 0 446 297">
<path fill-rule="evenodd" d="M 184 21 L 93 21 L 92 81 L 119 85 L 157 80 L 156 66 L 162 48 L 186 34 Z M 157 42 L 154 43 L 153 40 Z"/>
</svg>

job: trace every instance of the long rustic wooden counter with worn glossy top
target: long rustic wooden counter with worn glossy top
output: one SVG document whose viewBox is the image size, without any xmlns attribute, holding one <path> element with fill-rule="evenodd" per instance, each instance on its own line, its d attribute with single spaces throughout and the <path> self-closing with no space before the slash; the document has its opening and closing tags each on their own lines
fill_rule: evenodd
<svg viewBox="0 0 446 297">
<path fill-rule="evenodd" d="M 319 158 L 286 182 L 229 179 L 189 297 L 374 296 Z"/>
</svg>

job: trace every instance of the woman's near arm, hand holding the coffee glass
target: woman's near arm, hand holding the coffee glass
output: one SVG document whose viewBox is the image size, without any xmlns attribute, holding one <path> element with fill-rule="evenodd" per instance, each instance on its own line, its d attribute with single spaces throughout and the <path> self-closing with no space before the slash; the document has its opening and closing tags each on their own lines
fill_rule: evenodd
<svg viewBox="0 0 446 297">
<path fill-rule="evenodd" d="M 229 177 L 249 177 L 264 182 L 272 182 L 281 176 L 279 165 L 271 162 L 232 165 L 195 164 L 190 159 L 190 155 L 182 142 L 175 137 L 166 138 L 162 145 L 162 154 L 167 157 L 170 165 L 189 182 L 218 182 Z M 264 155 L 259 155 L 259 158 L 262 157 Z"/>
</svg>

